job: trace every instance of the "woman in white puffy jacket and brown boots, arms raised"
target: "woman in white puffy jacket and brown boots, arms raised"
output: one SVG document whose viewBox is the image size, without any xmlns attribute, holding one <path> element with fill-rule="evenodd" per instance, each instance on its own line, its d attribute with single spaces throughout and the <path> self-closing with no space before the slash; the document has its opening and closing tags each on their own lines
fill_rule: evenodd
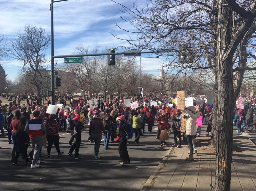
<svg viewBox="0 0 256 191">
<path fill-rule="evenodd" d="M 184 106 L 184 110 L 189 116 L 186 124 L 186 137 L 189 145 L 190 154 L 188 155 L 188 157 L 186 157 L 186 161 L 193 161 L 193 136 L 196 135 L 196 120 L 197 118 L 199 118 L 200 114 L 199 112 L 195 112 L 195 108 L 193 106 L 190 106 L 188 108 Z"/>
</svg>

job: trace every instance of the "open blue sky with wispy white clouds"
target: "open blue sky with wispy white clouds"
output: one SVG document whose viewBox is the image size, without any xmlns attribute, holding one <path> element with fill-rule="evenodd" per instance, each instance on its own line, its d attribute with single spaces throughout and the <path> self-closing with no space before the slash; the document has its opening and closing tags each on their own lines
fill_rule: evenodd
<svg viewBox="0 0 256 191">
<path fill-rule="evenodd" d="M 133 0 L 117 0 L 118 3 L 132 7 Z M 145 4 L 145 0 L 137 0 L 137 4 Z M 0 33 L 7 40 L 13 40 L 19 31 L 23 33 L 24 26 L 37 26 L 45 28 L 51 33 L 51 0 L 0 0 Z M 115 22 L 129 30 L 132 26 L 124 22 L 120 16 L 124 15 L 119 9 L 122 7 L 111 0 L 68 0 L 54 4 L 54 55 L 73 54 L 79 44 L 92 49 L 116 48 L 127 45 L 126 41 L 115 38 L 128 37 L 125 31 L 119 29 Z M 115 21 L 115 22 L 114 22 Z M 111 34 L 112 33 L 112 34 Z M 128 46 L 128 45 L 127 45 Z M 124 52 L 118 48 L 118 52 Z M 46 56 L 50 58 L 51 46 Z M 141 57 L 154 57 L 156 55 L 142 54 Z M 141 59 L 141 67 L 156 76 L 160 75 L 161 57 Z M 139 63 L 139 57 L 136 58 Z M 63 63 L 64 59 L 58 59 Z M 9 59 L 2 63 L 7 77 L 14 80 L 18 76 L 18 66 L 21 63 Z"/>
</svg>

